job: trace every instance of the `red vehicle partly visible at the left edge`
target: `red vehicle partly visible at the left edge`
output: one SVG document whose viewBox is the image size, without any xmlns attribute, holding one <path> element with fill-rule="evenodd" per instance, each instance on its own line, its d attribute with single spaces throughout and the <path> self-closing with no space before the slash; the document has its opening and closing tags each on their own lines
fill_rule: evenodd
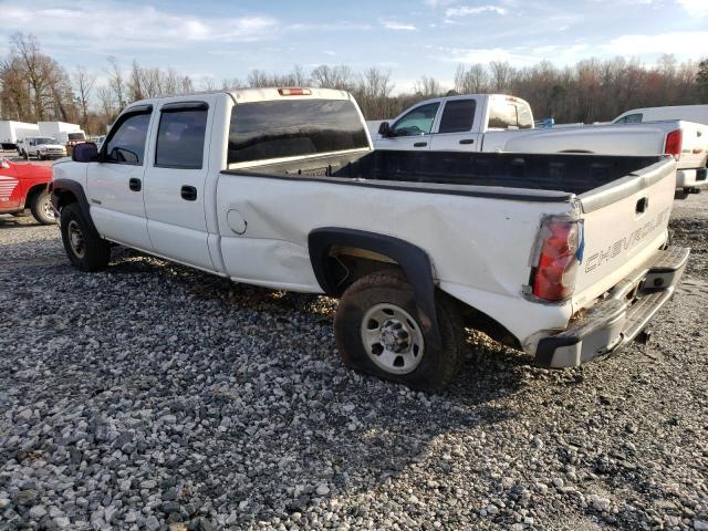
<svg viewBox="0 0 708 531">
<path fill-rule="evenodd" d="M 14 164 L 0 157 L 0 214 L 22 214 L 27 208 L 42 225 L 56 222 L 48 191 L 52 167 Z"/>
</svg>

